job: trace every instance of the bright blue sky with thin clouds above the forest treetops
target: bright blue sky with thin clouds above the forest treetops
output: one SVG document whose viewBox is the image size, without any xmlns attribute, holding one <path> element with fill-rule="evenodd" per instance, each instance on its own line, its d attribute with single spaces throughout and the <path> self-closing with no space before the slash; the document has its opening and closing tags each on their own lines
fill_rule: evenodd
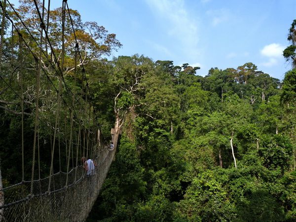
<svg viewBox="0 0 296 222">
<path fill-rule="evenodd" d="M 12 1 L 15 2 L 15 1 Z M 52 0 L 52 7 L 62 0 Z M 237 68 L 247 62 L 283 79 L 282 56 L 296 0 L 68 0 L 83 21 L 96 21 L 123 44 L 112 56 L 143 54 L 175 65 Z"/>
</svg>

